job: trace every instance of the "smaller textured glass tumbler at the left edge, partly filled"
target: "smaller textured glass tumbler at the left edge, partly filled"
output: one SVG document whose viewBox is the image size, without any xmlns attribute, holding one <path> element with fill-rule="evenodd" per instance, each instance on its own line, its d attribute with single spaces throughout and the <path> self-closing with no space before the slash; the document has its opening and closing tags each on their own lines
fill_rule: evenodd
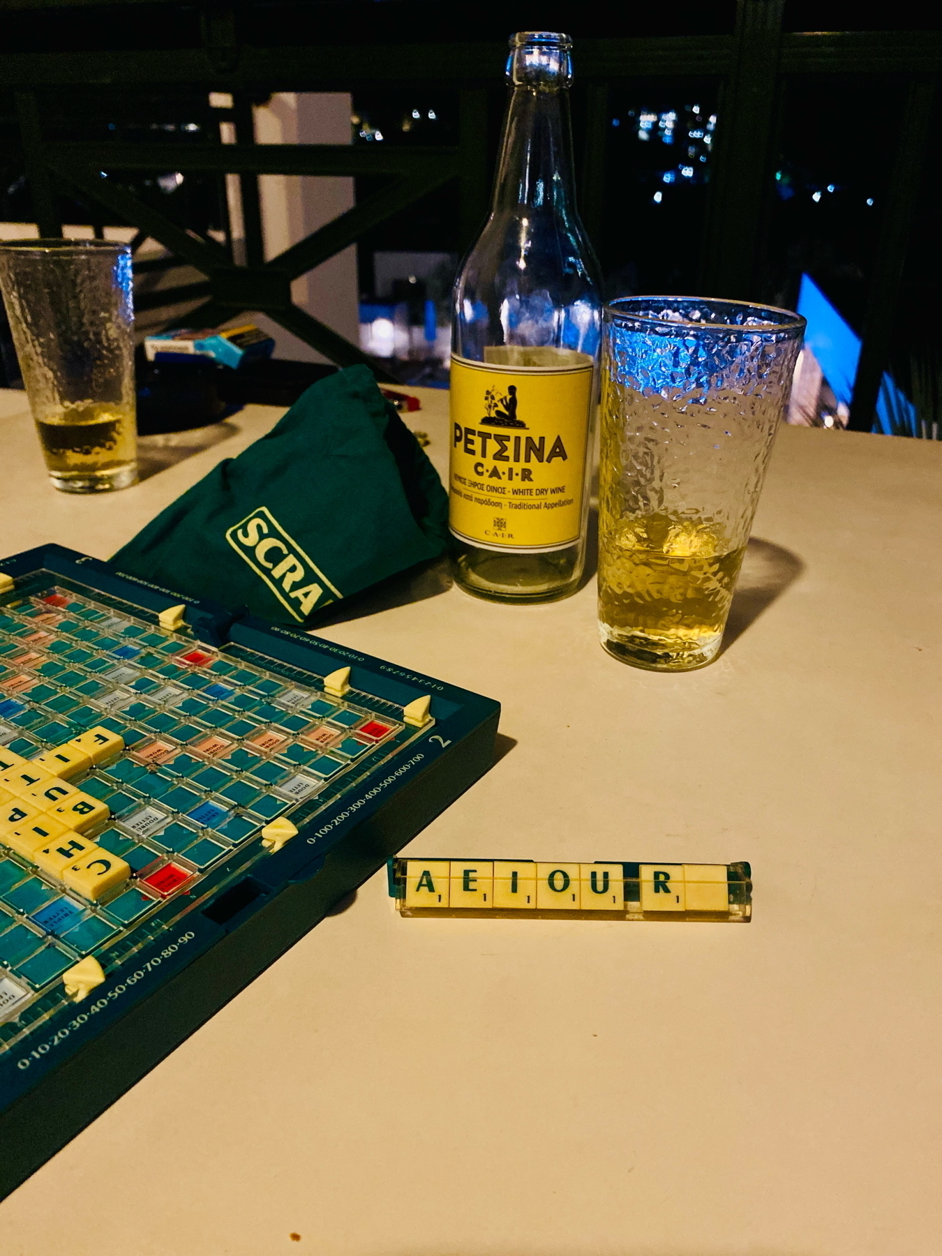
<svg viewBox="0 0 942 1256">
<path fill-rule="evenodd" d="M 49 479 L 64 492 L 137 480 L 131 249 L 0 245 L 0 290 Z"/>
</svg>

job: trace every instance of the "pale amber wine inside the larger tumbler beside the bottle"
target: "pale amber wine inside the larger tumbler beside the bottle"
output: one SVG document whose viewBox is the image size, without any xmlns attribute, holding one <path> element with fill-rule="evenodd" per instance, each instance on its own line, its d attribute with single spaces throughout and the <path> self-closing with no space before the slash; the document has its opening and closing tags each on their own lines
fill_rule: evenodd
<svg viewBox="0 0 942 1256">
<path fill-rule="evenodd" d="M 669 514 L 599 517 L 599 623 L 605 649 L 652 671 L 703 667 L 720 648 L 746 546 Z"/>
</svg>

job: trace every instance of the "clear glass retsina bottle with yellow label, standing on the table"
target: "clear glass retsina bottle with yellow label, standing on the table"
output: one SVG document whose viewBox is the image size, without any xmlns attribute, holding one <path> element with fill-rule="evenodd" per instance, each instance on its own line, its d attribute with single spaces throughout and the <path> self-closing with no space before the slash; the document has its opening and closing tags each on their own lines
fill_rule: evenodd
<svg viewBox="0 0 942 1256">
<path fill-rule="evenodd" d="M 510 41 L 490 217 L 455 284 L 455 578 L 499 602 L 573 593 L 585 559 L 600 298 L 575 210 L 571 41 Z"/>
</svg>

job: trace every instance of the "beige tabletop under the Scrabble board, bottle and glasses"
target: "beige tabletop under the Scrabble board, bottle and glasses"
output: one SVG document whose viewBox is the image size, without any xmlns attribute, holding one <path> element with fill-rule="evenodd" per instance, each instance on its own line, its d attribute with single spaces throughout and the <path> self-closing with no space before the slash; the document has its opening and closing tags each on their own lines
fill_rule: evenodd
<svg viewBox="0 0 942 1256">
<path fill-rule="evenodd" d="M 0 404 L 4 553 L 102 558 L 278 414 L 90 500 Z M 938 1256 L 941 486 L 942 445 L 785 428 L 687 676 L 609 659 L 592 584 L 332 625 L 504 703 L 416 854 L 749 859 L 754 922 L 401 921 L 377 875 L 0 1205 L 3 1256 Z"/>
</svg>

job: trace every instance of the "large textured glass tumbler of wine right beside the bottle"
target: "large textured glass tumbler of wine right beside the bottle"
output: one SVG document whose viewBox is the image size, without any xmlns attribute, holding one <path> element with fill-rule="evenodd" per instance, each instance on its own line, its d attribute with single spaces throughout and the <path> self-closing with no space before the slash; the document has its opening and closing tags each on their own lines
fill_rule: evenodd
<svg viewBox="0 0 942 1256">
<path fill-rule="evenodd" d="M 599 634 L 615 658 L 716 658 L 804 327 L 692 296 L 605 308 Z"/>
</svg>

